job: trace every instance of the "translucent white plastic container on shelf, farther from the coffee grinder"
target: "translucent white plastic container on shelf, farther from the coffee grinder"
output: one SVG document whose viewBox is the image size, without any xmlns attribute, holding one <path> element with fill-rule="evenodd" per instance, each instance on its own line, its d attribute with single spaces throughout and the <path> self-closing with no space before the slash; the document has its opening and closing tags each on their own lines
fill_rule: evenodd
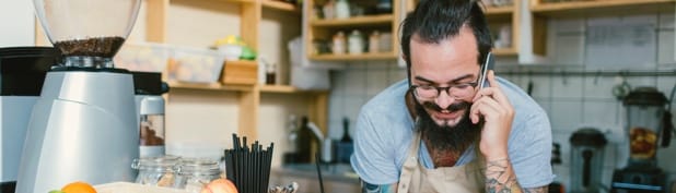
<svg viewBox="0 0 676 193">
<path fill-rule="evenodd" d="M 225 53 L 207 48 L 174 48 L 174 63 L 168 79 L 187 83 L 217 83 L 223 69 Z"/>
</svg>

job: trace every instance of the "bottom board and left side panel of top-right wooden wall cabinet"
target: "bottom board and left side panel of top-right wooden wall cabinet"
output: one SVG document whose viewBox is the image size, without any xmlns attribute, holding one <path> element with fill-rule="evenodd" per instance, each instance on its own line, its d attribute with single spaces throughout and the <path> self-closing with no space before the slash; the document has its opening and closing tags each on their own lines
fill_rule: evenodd
<svg viewBox="0 0 676 193">
<path fill-rule="evenodd" d="M 548 20 L 673 13 L 676 0 L 578 0 L 563 2 L 529 0 L 528 3 L 528 11 L 533 17 L 533 51 L 536 55 L 545 56 L 547 53 L 545 48 Z"/>
</svg>

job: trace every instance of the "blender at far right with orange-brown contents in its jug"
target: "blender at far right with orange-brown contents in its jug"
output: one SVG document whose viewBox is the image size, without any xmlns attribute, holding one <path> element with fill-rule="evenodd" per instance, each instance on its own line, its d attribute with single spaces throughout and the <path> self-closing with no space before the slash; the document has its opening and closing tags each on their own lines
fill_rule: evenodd
<svg viewBox="0 0 676 193">
<path fill-rule="evenodd" d="M 626 107 L 626 132 L 629 134 L 629 161 L 615 170 L 610 192 L 667 192 L 666 174 L 657 167 L 658 140 L 668 146 L 671 120 L 664 119 L 667 99 L 654 87 L 639 87 L 622 101 Z"/>
</svg>

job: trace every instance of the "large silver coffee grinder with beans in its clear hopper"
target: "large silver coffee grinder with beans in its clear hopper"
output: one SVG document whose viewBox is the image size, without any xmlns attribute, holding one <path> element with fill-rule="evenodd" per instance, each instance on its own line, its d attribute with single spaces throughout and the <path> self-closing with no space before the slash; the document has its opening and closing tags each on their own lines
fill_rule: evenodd
<svg viewBox="0 0 676 193">
<path fill-rule="evenodd" d="M 62 53 L 33 107 L 16 192 L 45 193 L 73 181 L 132 181 L 139 156 L 133 79 L 113 57 L 140 0 L 34 0 Z"/>
</svg>

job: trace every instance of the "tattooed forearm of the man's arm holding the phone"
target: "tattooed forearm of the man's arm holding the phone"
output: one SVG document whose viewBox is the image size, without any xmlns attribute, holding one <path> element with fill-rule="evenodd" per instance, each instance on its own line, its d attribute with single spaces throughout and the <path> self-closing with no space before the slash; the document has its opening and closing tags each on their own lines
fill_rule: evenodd
<svg viewBox="0 0 676 193">
<path fill-rule="evenodd" d="M 527 192 L 527 193 L 544 193 L 547 192 L 547 186 L 523 189 L 516 180 L 516 174 L 512 168 L 512 164 L 508 158 L 496 159 L 486 162 L 486 192 L 494 193 L 511 193 L 511 192 Z"/>
</svg>

